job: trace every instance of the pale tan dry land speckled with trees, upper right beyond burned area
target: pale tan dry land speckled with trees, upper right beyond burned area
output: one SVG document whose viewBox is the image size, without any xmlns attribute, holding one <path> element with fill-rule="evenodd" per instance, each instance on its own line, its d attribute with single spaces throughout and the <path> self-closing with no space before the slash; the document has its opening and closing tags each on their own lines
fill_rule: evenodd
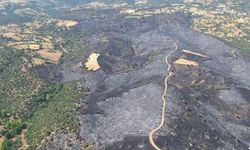
<svg viewBox="0 0 250 150">
<path fill-rule="evenodd" d="M 228 41 L 247 37 L 250 18 L 244 14 L 229 10 L 224 5 L 220 6 L 217 11 L 202 10 L 201 8 L 190 9 L 190 12 L 196 16 L 193 20 L 193 29 L 225 38 Z"/>
</svg>

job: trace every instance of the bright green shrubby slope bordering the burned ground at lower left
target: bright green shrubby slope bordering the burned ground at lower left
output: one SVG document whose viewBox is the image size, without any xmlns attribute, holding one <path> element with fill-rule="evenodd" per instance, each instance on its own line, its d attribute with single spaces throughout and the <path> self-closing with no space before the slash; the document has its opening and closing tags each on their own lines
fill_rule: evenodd
<svg viewBox="0 0 250 150">
<path fill-rule="evenodd" d="M 74 117 L 75 104 L 81 96 L 77 81 L 53 85 L 42 92 L 40 100 L 47 101 L 28 120 L 27 142 L 34 149 L 41 140 L 53 131 L 73 132 L 77 127 Z"/>
</svg>

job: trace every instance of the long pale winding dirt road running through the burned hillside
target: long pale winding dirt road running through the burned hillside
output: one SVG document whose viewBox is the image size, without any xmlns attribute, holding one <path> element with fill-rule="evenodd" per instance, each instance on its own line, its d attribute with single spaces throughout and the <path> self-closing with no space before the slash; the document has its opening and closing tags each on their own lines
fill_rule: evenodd
<svg viewBox="0 0 250 150">
<path fill-rule="evenodd" d="M 168 58 L 177 50 L 178 46 L 177 46 L 177 43 L 175 43 L 175 49 L 170 52 L 167 56 L 166 56 L 166 63 L 168 65 L 168 69 L 167 71 L 170 72 L 170 68 L 171 68 L 171 64 L 168 62 Z M 165 123 L 165 111 L 166 111 L 166 98 L 167 98 L 167 90 L 168 90 L 168 79 L 172 76 L 172 72 L 170 72 L 166 78 L 165 78 L 165 89 L 164 89 L 164 93 L 161 97 L 162 99 L 162 112 L 161 112 L 161 123 L 159 124 L 158 127 L 154 128 L 151 130 L 151 132 L 149 133 L 149 143 L 156 149 L 156 150 L 161 150 L 161 148 L 159 148 L 156 144 L 155 144 L 155 141 L 154 141 L 154 134 L 155 132 L 159 131 L 162 126 L 164 125 Z"/>
</svg>

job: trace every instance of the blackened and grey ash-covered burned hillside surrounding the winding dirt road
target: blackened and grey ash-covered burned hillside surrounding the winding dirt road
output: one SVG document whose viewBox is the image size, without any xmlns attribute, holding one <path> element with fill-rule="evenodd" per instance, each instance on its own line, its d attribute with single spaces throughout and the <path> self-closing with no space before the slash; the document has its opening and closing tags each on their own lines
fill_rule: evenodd
<svg viewBox="0 0 250 150">
<path fill-rule="evenodd" d="M 94 10 L 93 10 L 94 11 Z M 151 150 L 148 134 L 158 126 L 170 63 L 165 125 L 155 136 L 162 149 L 250 147 L 250 61 L 223 42 L 192 31 L 185 14 L 126 19 L 115 10 L 77 11 L 78 30 L 89 31 L 89 54 L 101 69 L 63 71 L 83 78 L 89 94 L 78 111 L 80 136 L 96 149 Z M 183 49 L 207 58 L 183 53 Z M 199 66 L 174 64 L 179 58 Z M 69 77 L 67 77 L 69 76 Z"/>
</svg>

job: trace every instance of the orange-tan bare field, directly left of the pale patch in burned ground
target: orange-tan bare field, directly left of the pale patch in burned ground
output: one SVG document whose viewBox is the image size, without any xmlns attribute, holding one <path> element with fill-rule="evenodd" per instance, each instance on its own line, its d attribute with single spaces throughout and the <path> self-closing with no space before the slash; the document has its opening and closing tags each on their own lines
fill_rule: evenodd
<svg viewBox="0 0 250 150">
<path fill-rule="evenodd" d="M 48 59 L 53 62 L 58 62 L 62 56 L 62 52 L 60 51 L 38 50 L 36 53 L 41 55 L 44 59 Z"/>
</svg>

